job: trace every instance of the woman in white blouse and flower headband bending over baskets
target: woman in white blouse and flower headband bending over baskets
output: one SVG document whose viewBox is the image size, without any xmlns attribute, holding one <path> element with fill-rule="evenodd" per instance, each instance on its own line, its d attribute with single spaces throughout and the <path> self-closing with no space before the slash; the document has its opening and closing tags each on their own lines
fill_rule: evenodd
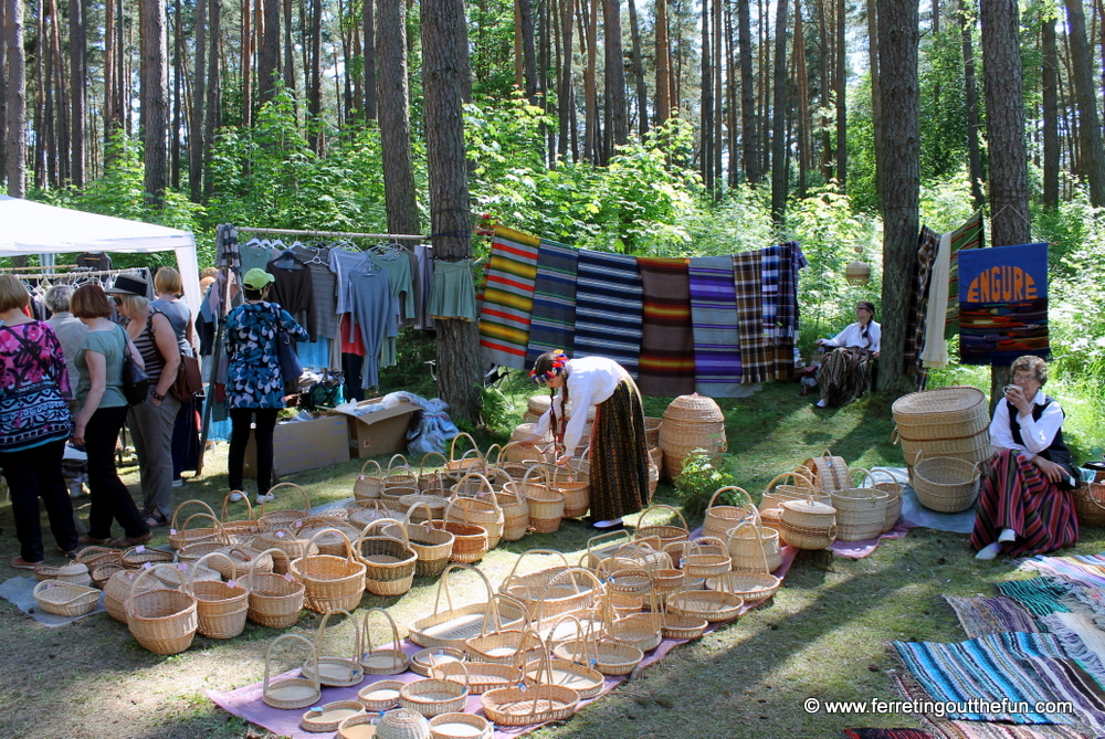
<svg viewBox="0 0 1105 739">
<path fill-rule="evenodd" d="M 547 351 L 529 372 L 534 382 L 559 390 L 527 444 L 539 442 L 551 427 L 558 450 L 557 464 L 566 465 L 579 445 L 588 409 L 596 407 L 591 430 L 591 522 L 596 528 L 621 524 L 621 517 L 649 503 L 649 450 L 644 435 L 641 393 L 629 372 L 612 359 L 568 359 L 564 351 Z M 565 418 L 565 407 L 573 413 Z"/>
</svg>

